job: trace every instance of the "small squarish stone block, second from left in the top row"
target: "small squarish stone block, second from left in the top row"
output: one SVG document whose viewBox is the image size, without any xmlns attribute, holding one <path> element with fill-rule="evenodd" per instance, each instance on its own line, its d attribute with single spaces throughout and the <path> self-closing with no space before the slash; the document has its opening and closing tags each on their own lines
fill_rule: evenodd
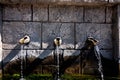
<svg viewBox="0 0 120 80">
<path fill-rule="evenodd" d="M 48 6 L 33 5 L 33 21 L 48 21 Z"/>
</svg>

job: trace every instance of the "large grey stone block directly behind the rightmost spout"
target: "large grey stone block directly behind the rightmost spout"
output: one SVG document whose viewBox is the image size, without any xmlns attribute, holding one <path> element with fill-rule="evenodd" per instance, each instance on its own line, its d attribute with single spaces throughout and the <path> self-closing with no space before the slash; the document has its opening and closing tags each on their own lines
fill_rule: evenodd
<svg viewBox="0 0 120 80">
<path fill-rule="evenodd" d="M 89 36 L 99 41 L 98 45 L 100 48 L 112 49 L 112 30 L 110 24 L 76 24 L 76 49 L 81 49 Z"/>
</svg>

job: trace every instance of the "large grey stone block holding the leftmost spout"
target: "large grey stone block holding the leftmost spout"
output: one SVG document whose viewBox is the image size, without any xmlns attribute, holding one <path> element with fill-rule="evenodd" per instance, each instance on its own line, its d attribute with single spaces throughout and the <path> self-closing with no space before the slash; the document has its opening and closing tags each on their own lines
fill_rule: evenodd
<svg viewBox="0 0 120 80">
<path fill-rule="evenodd" d="M 29 35 L 31 42 L 27 49 L 39 49 L 41 43 L 41 23 L 39 22 L 3 22 L 3 48 L 16 49 L 18 41 Z M 12 46 L 13 45 L 13 46 Z"/>
</svg>

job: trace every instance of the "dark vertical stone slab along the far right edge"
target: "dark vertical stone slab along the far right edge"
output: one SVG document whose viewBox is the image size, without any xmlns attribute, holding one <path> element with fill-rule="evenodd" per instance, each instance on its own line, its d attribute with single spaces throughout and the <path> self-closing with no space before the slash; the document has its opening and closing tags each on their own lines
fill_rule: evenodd
<svg viewBox="0 0 120 80">
<path fill-rule="evenodd" d="M 116 71 L 120 74 L 120 5 L 114 8 L 113 23 L 114 59 Z"/>
</svg>

